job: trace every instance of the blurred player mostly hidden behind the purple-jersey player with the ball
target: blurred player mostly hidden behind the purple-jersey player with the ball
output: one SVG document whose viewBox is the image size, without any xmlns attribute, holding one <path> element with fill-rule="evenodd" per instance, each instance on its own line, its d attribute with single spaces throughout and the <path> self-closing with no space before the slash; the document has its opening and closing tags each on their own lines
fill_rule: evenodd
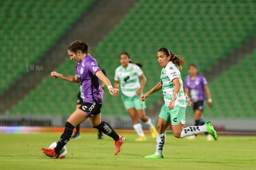
<svg viewBox="0 0 256 170">
<path fill-rule="evenodd" d="M 92 53 L 90 53 L 90 52 L 88 52 L 88 55 L 93 56 Z M 106 75 L 105 70 L 101 69 L 101 71 L 103 72 L 103 74 Z M 80 87 L 80 85 L 79 85 L 79 87 Z M 104 93 L 105 83 L 103 83 L 102 81 L 101 81 L 101 87 L 102 87 L 102 90 L 103 90 L 103 93 Z M 79 108 L 82 104 L 83 104 L 83 99 L 81 98 L 81 92 L 79 91 L 79 93 L 77 95 L 77 106 L 76 106 L 76 108 Z M 71 138 L 78 139 L 78 138 L 81 137 L 80 136 L 80 124 L 75 127 L 75 130 L 76 131 L 75 131 L 74 135 L 72 135 Z M 100 129 L 98 129 L 98 139 L 104 139 L 104 136 L 103 136 L 102 132 L 100 131 Z"/>
</svg>

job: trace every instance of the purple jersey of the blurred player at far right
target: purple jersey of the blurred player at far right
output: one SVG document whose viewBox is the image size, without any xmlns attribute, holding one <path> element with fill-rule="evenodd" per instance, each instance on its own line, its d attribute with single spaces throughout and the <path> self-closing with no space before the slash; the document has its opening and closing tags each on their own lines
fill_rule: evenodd
<svg viewBox="0 0 256 170">
<path fill-rule="evenodd" d="M 190 75 L 186 77 L 185 88 L 189 88 L 189 95 L 194 103 L 205 100 L 205 90 L 203 88 L 205 85 L 207 85 L 207 80 L 203 75 L 197 74 L 194 80 L 190 79 Z"/>
</svg>

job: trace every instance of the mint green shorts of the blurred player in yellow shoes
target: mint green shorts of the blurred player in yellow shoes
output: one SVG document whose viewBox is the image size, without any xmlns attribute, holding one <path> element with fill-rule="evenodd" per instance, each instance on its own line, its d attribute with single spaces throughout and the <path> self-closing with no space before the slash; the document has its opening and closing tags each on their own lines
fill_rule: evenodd
<svg viewBox="0 0 256 170">
<path fill-rule="evenodd" d="M 136 110 L 145 109 L 145 101 L 140 101 L 140 96 L 129 97 L 122 95 L 122 101 L 126 109 L 135 108 Z"/>
</svg>

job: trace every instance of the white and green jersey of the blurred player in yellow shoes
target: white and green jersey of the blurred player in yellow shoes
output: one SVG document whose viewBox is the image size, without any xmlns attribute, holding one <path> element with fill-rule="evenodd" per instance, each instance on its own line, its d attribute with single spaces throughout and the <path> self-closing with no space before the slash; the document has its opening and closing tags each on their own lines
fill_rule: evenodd
<svg viewBox="0 0 256 170">
<path fill-rule="evenodd" d="M 139 76 L 142 74 L 139 66 L 129 63 L 126 69 L 122 66 L 117 67 L 114 80 L 119 81 L 122 94 L 133 97 L 140 88 Z"/>
</svg>

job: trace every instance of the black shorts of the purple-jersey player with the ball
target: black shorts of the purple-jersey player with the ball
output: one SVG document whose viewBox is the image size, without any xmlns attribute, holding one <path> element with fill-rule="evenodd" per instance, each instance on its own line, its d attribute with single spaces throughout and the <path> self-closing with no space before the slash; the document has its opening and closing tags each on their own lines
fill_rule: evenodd
<svg viewBox="0 0 256 170">
<path fill-rule="evenodd" d="M 82 103 L 79 109 L 84 111 L 87 117 L 93 117 L 96 114 L 100 114 L 101 106 L 102 104 L 99 103 Z"/>
</svg>

